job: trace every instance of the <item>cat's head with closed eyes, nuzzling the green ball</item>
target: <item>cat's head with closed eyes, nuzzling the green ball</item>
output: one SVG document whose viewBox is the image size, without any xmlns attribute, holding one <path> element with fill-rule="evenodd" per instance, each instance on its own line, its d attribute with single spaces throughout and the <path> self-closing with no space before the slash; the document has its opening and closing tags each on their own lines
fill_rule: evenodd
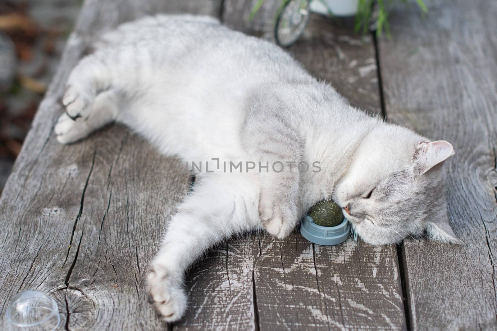
<svg viewBox="0 0 497 331">
<path fill-rule="evenodd" d="M 367 243 L 398 243 L 426 231 L 432 239 L 462 244 L 447 217 L 444 161 L 453 154 L 447 141 L 380 125 L 355 152 L 335 200 Z"/>
</svg>

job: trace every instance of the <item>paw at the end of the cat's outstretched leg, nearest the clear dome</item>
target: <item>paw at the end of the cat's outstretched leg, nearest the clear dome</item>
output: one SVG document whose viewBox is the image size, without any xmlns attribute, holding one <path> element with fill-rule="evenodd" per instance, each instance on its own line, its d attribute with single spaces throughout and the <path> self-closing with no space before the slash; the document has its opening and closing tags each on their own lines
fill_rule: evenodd
<svg viewBox="0 0 497 331">
<path fill-rule="evenodd" d="M 147 274 L 148 300 L 161 319 L 175 322 L 186 310 L 186 294 L 181 287 L 181 278 L 169 273 L 165 265 L 152 263 Z"/>
</svg>

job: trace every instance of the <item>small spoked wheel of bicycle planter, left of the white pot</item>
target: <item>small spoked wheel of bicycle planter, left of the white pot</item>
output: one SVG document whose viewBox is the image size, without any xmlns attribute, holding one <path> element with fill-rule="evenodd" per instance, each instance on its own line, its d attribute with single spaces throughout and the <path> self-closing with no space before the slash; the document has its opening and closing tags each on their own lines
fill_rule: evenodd
<svg viewBox="0 0 497 331">
<path fill-rule="evenodd" d="M 287 0 L 276 19 L 274 38 L 281 47 L 290 47 L 300 38 L 311 18 L 309 0 Z"/>
</svg>

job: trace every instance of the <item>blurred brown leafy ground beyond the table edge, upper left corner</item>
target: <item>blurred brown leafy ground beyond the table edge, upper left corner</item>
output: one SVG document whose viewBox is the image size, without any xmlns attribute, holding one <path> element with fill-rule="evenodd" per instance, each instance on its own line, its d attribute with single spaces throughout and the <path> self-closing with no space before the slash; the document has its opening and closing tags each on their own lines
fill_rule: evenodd
<svg viewBox="0 0 497 331">
<path fill-rule="evenodd" d="M 82 0 L 0 0 L 0 194 Z"/>
</svg>

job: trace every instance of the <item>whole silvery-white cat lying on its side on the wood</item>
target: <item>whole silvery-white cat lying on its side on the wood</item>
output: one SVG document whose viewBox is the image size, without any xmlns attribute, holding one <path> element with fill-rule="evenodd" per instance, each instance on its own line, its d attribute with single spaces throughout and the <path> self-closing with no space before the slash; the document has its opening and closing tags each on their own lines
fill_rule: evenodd
<svg viewBox="0 0 497 331">
<path fill-rule="evenodd" d="M 159 15 L 94 48 L 69 77 L 57 139 L 116 121 L 162 153 L 203 162 L 148 274 L 163 320 L 183 315 L 184 271 L 206 249 L 260 227 L 284 238 L 321 200 L 334 199 L 373 245 L 425 230 L 460 243 L 446 210 L 452 145 L 354 109 L 275 45 L 209 17 Z"/>
</svg>

